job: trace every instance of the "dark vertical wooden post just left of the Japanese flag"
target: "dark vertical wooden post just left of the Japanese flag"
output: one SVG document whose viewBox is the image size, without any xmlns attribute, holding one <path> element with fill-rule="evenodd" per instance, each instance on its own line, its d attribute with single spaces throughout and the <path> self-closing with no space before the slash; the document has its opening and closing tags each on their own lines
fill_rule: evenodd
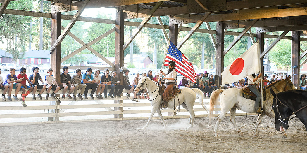
<svg viewBox="0 0 307 153">
<path fill-rule="evenodd" d="M 216 24 L 216 75 L 219 76 L 219 86 L 222 84 L 222 72 L 224 70 L 224 28 L 225 24 Z"/>
</svg>

